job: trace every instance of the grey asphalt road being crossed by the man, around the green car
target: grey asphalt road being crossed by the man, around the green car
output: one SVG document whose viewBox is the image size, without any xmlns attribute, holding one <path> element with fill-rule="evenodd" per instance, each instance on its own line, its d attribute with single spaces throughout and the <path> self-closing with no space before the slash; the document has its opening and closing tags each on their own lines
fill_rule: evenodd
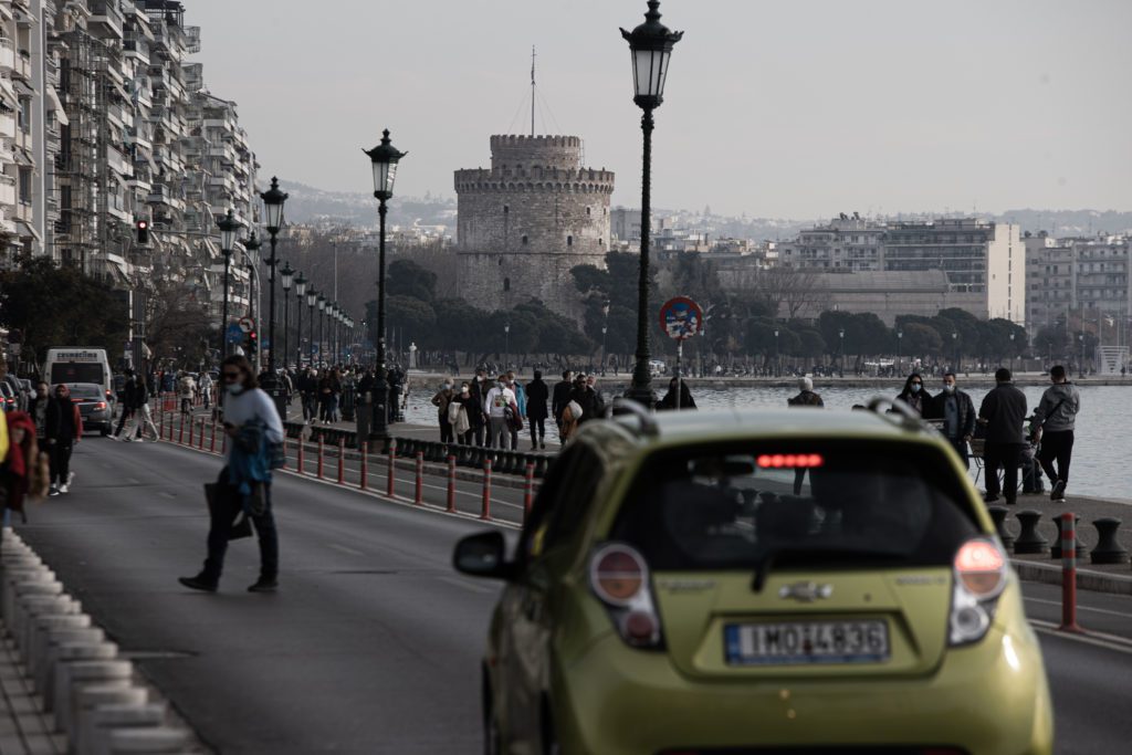
<svg viewBox="0 0 1132 755">
<path fill-rule="evenodd" d="M 218 466 L 169 444 L 88 438 L 74 492 L 34 508 L 22 532 L 225 754 L 477 752 L 478 663 L 497 587 L 455 575 L 449 558 L 458 537 L 486 525 L 280 475 L 281 592 L 243 591 L 257 563 L 242 541 L 221 592 L 191 593 L 175 577 L 199 567 L 200 486 Z M 409 495 L 408 479 L 398 490 Z M 517 506 L 521 494 L 498 495 Z M 427 499 L 441 505 L 443 487 Z M 1113 637 L 1071 638 L 1047 630 L 1057 587 L 1028 584 L 1026 595 L 1058 752 L 1126 752 L 1132 599 L 1082 593 L 1081 623 Z"/>
</svg>

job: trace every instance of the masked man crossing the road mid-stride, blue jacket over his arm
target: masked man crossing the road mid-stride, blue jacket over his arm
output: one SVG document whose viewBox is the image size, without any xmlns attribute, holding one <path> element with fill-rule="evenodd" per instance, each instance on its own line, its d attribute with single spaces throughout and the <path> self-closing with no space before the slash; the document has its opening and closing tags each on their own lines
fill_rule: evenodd
<svg viewBox="0 0 1132 755">
<path fill-rule="evenodd" d="M 283 422 L 246 357 L 226 358 L 221 380 L 228 448 L 209 505 L 208 556 L 199 574 L 179 581 L 192 590 L 216 591 L 232 525 L 242 512 L 259 540 L 259 578 L 248 591 L 273 592 L 278 586 L 278 535 L 272 513 L 271 456 L 273 446 L 283 443 Z"/>
</svg>

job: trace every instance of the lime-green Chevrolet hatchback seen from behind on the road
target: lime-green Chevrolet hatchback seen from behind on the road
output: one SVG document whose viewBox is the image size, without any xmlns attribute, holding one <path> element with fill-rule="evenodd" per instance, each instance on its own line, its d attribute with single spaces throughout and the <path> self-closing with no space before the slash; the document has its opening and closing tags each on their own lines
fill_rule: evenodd
<svg viewBox="0 0 1132 755">
<path fill-rule="evenodd" d="M 489 754 L 1044 755 L 1018 577 L 946 441 L 877 411 L 594 421 L 508 554 Z M 891 403 L 891 402 L 885 402 Z"/>
</svg>

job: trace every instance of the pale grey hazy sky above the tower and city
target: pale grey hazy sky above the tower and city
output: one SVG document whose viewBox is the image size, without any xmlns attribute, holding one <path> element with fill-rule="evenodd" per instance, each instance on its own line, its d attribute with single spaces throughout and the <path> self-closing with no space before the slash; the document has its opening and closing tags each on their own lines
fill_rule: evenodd
<svg viewBox="0 0 1132 755">
<path fill-rule="evenodd" d="M 454 196 L 488 136 L 585 139 L 640 205 L 640 110 L 618 26 L 644 0 L 185 0 L 213 94 L 272 173 Z M 653 205 L 771 217 L 1132 209 L 1130 0 L 663 0 L 676 45 Z M 525 105 L 524 105 L 525 103 Z M 525 108 L 525 112 L 524 112 Z"/>
</svg>

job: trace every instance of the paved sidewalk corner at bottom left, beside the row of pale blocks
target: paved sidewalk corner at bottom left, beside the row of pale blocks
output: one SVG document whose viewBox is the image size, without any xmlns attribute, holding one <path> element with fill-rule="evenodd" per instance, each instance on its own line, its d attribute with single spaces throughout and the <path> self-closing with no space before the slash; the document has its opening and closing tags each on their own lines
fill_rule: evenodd
<svg viewBox="0 0 1132 755">
<path fill-rule="evenodd" d="M 0 625 L 0 634 L 7 630 Z M 51 715 L 32 690 L 16 651 L 8 640 L 0 643 L 0 755 L 62 755 L 67 738 L 54 733 Z"/>
</svg>

